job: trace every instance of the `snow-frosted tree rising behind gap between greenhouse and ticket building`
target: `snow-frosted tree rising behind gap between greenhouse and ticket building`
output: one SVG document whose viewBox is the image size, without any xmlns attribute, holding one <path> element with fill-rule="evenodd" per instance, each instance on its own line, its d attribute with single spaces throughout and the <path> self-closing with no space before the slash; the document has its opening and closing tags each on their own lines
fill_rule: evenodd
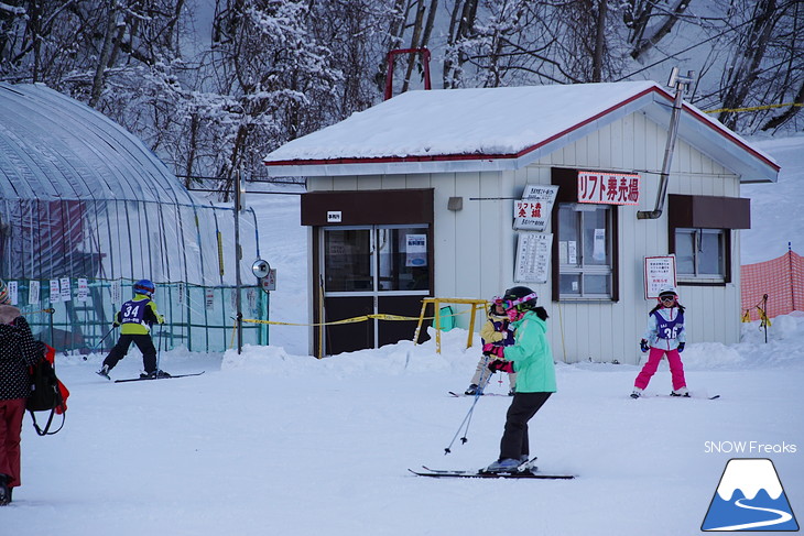
<svg viewBox="0 0 804 536">
<path fill-rule="evenodd" d="M 319 103 L 334 97 L 341 75 L 308 31 L 311 17 L 301 0 L 232 0 L 220 10 L 211 65 L 231 127 L 216 176 L 251 169 L 271 149 L 322 125 Z"/>
</svg>

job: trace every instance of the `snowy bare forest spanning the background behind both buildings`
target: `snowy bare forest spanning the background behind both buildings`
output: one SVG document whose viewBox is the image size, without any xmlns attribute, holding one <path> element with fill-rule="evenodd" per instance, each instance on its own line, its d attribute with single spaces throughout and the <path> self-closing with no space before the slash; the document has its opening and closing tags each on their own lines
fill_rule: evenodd
<svg viewBox="0 0 804 536">
<path fill-rule="evenodd" d="M 188 187 L 383 99 L 388 54 L 434 88 L 653 79 L 746 135 L 804 130 L 798 0 L 0 0 L 0 80 L 44 83 L 142 139 Z M 393 92 L 422 88 L 422 54 Z M 208 181 L 207 181 L 208 179 Z"/>
</svg>

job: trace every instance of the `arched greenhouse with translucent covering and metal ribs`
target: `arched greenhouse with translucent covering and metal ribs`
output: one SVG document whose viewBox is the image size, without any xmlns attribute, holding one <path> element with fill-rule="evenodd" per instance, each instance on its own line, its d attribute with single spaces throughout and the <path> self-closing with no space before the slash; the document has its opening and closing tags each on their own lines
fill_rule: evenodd
<svg viewBox="0 0 804 536">
<path fill-rule="evenodd" d="M 135 136 L 40 84 L 0 84 L 0 278 L 34 335 L 65 351 L 110 348 L 115 313 L 156 284 L 163 348 L 220 351 L 236 317 L 236 212 L 204 204 Z M 239 215 L 241 310 L 267 318 L 251 275 L 257 221 Z M 243 342 L 268 343 L 264 324 Z M 155 342 L 155 338 L 154 338 Z"/>
</svg>

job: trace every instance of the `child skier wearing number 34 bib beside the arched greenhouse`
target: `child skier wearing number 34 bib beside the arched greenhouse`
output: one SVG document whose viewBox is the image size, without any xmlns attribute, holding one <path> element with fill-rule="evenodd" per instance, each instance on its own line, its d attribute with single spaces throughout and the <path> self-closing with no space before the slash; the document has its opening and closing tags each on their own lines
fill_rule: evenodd
<svg viewBox="0 0 804 536">
<path fill-rule="evenodd" d="M 169 373 L 156 369 L 156 348 L 151 340 L 151 326 L 165 321 L 156 310 L 156 303 L 151 299 L 156 287 L 149 280 L 140 280 L 134 283 L 133 289 L 134 297 L 126 302 L 115 317 L 115 327 L 121 326 L 120 339 L 104 360 L 104 368 L 98 374 L 109 379 L 109 371 L 126 357 L 133 342 L 142 352 L 145 369 L 140 378 L 167 378 Z"/>
</svg>

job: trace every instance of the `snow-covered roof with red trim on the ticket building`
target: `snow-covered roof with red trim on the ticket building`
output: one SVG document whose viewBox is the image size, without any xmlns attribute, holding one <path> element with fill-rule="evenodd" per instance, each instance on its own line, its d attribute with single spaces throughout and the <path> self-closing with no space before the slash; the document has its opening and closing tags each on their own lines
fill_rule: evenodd
<svg viewBox="0 0 804 536">
<path fill-rule="evenodd" d="M 263 162 L 271 175 L 515 169 L 638 110 L 667 124 L 672 102 L 653 81 L 408 91 Z M 770 156 L 697 108 L 684 110 L 682 139 L 746 182 L 775 181 Z"/>
</svg>

